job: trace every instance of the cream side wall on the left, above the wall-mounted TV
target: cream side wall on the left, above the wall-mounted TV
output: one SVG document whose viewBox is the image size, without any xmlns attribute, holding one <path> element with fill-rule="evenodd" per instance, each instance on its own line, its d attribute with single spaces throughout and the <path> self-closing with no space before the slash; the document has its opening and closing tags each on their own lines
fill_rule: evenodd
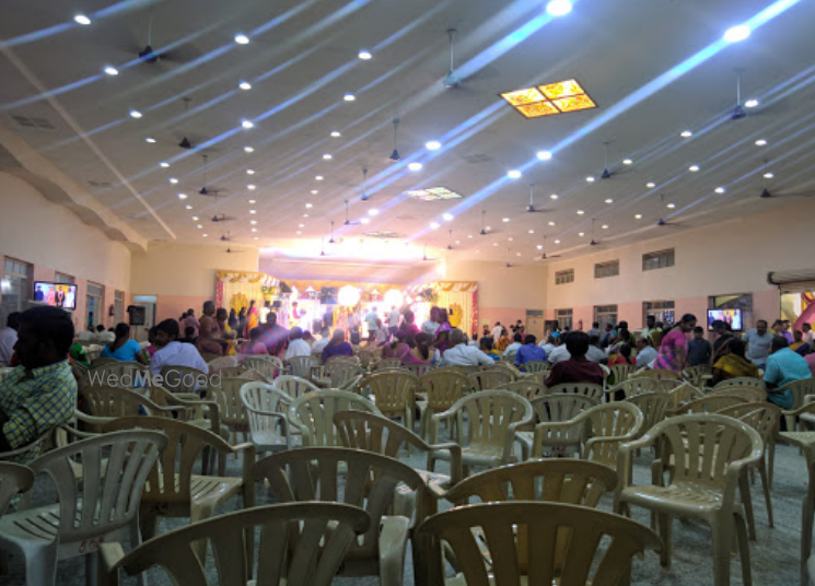
<svg viewBox="0 0 815 586">
<path fill-rule="evenodd" d="M 56 272 L 73 277 L 78 285 L 74 325 L 81 329 L 85 327 L 88 281 L 104 285 L 101 323 L 113 326 L 107 308 L 116 290 L 130 290 L 130 249 L 8 173 L 0 173 L 0 257 L 33 265 L 34 280 L 53 281 Z"/>
</svg>

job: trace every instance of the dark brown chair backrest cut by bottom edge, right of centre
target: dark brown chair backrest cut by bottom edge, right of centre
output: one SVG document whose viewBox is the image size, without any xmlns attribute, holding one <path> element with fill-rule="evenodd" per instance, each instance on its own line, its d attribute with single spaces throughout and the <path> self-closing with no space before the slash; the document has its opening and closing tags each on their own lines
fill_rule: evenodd
<svg viewBox="0 0 815 586">
<path fill-rule="evenodd" d="M 528 501 L 462 506 L 433 515 L 417 529 L 415 542 L 419 586 L 444 584 L 444 544 L 461 567 L 463 584 L 496 586 L 622 586 L 630 583 L 634 555 L 662 548 L 651 529 L 619 515 Z M 488 555 L 482 552 L 486 547 Z M 543 554 L 531 555 L 532 551 Z"/>
</svg>

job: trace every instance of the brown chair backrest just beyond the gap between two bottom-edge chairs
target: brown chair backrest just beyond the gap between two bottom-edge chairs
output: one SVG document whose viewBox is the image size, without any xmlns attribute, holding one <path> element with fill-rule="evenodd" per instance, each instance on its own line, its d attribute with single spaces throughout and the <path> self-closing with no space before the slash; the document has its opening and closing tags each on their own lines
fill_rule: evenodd
<svg viewBox="0 0 815 586">
<path fill-rule="evenodd" d="M 339 470 L 345 465 L 341 482 Z M 324 501 L 364 508 L 371 526 L 348 551 L 346 559 L 376 556 L 382 516 L 399 483 L 417 491 L 416 520 L 428 513 L 427 485 L 408 465 L 394 458 L 345 447 L 304 447 L 275 454 L 255 464 L 255 480 L 268 482 L 283 503 Z"/>
</svg>

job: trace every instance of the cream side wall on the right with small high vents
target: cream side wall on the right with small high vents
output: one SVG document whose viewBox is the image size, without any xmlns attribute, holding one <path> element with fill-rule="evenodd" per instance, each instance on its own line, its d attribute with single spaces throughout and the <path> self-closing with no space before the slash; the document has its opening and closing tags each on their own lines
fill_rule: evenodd
<svg viewBox="0 0 815 586">
<path fill-rule="evenodd" d="M 815 201 L 796 201 L 761 214 L 746 215 L 692 231 L 672 232 L 637 245 L 603 250 L 549 265 L 547 318 L 555 309 L 573 309 L 573 321 L 587 329 L 596 305 L 618 305 L 619 319 L 642 326 L 643 301 L 674 301 L 676 313 L 701 318 L 708 296 L 753 293 L 756 318 L 779 316 L 779 295 L 767 282 L 770 271 L 815 269 L 807 244 Z M 675 249 L 675 266 L 642 270 L 642 255 Z M 594 265 L 619 259 L 620 273 L 594 278 Z M 574 269 L 574 282 L 555 284 L 555 273 Z M 752 324 L 748 324 L 752 326 Z"/>
</svg>

